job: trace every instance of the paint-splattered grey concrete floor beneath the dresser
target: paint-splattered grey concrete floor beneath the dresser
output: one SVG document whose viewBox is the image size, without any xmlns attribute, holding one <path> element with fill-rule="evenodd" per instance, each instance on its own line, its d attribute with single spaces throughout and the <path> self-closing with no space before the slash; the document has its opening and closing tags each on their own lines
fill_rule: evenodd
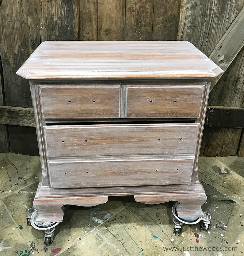
<svg viewBox="0 0 244 256">
<path fill-rule="evenodd" d="M 208 195 L 203 210 L 212 216 L 209 232 L 185 225 L 176 237 L 172 203 L 144 205 L 130 196 L 110 197 L 103 205 L 66 208 L 52 245 L 44 247 L 43 233 L 26 225 L 40 179 L 39 157 L 0 154 L 0 255 L 243 255 L 243 165 L 238 157 L 200 158 L 199 177 Z M 179 251 L 166 252 L 167 247 Z M 199 251 L 203 247 L 208 252 Z M 215 251 L 209 251 L 212 247 Z M 224 251 L 232 247 L 236 251 Z"/>
</svg>

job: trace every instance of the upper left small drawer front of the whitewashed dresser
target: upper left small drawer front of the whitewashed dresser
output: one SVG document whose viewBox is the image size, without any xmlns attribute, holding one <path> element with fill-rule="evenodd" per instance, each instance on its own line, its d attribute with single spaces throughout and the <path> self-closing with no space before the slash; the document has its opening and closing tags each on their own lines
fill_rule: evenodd
<svg viewBox="0 0 244 256">
<path fill-rule="evenodd" d="M 118 118 L 119 86 L 40 87 L 42 116 L 62 118 Z"/>
</svg>

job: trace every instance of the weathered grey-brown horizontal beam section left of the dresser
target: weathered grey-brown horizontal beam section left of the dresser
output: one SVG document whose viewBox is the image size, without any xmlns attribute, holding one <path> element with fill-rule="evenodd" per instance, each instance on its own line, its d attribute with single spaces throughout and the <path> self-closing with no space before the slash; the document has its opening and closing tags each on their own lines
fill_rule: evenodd
<svg viewBox="0 0 244 256">
<path fill-rule="evenodd" d="M 0 124 L 34 127 L 33 108 L 0 106 Z"/>
</svg>

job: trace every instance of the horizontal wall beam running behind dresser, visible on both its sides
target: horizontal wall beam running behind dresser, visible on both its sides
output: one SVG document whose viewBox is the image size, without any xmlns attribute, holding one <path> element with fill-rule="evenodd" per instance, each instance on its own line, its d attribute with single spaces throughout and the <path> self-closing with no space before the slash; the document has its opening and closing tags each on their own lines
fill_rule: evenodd
<svg viewBox="0 0 244 256">
<path fill-rule="evenodd" d="M 205 126 L 244 128 L 244 107 L 208 106 Z M 0 124 L 35 126 L 32 108 L 0 106 Z"/>
</svg>

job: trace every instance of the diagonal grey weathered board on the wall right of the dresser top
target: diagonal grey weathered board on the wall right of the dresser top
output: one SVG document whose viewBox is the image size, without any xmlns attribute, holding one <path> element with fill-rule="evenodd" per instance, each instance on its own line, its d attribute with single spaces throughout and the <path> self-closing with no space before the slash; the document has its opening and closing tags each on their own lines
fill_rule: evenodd
<svg viewBox="0 0 244 256">
<path fill-rule="evenodd" d="M 243 46 L 244 7 L 241 9 L 236 19 L 232 22 L 224 36 L 222 36 L 216 47 L 213 49 L 212 53 L 209 55 L 209 58 L 215 64 L 220 66 L 225 72 Z M 213 79 L 210 90 L 213 89 L 222 75 Z"/>
</svg>

